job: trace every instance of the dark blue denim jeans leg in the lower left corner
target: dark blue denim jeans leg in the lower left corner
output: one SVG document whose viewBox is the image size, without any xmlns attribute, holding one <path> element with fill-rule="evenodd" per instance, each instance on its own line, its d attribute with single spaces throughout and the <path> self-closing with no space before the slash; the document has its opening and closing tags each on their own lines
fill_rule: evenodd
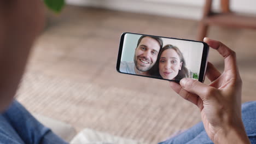
<svg viewBox="0 0 256 144">
<path fill-rule="evenodd" d="M 0 143 L 67 143 L 37 121 L 18 101 L 0 115 Z"/>
</svg>

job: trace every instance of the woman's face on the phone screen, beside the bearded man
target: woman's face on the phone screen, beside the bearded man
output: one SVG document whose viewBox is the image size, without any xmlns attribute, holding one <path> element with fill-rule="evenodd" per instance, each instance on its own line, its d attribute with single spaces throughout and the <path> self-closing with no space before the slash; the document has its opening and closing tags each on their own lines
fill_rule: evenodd
<svg viewBox="0 0 256 144">
<path fill-rule="evenodd" d="M 173 49 L 162 52 L 159 59 L 159 73 L 164 79 L 174 80 L 182 68 L 178 53 Z"/>
</svg>

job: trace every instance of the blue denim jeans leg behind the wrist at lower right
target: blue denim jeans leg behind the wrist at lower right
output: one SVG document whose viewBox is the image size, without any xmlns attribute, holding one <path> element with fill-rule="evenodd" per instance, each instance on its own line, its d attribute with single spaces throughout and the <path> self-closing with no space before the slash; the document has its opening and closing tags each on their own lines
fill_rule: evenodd
<svg viewBox="0 0 256 144">
<path fill-rule="evenodd" d="M 249 101 L 242 105 L 242 120 L 246 133 L 252 144 L 256 143 L 256 101 Z M 206 134 L 202 122 L 194 125 L 183 133 L 159 144 L 194 144 L 213 143 Z"/>
</svg>

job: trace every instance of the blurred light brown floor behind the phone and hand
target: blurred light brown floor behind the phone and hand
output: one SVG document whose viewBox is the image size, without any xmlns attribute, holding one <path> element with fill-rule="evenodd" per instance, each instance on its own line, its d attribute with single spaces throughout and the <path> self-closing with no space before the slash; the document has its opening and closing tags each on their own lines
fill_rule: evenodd
<svg viewBox="0 0 256 144">
<path fill-rule="evenodd" d="M 200 122 L 200 113 L 167 81 L 119 74 L 119 37 L 134 32 L 195 39 L 198 21 L 68 6 L 48 15 L 34 45 L 18 100 L 28 110 L 72 124 L 147 143 L 165 140 Z M 256 31 L 211 27 L 208 37 L 237 52 L 242 101 L 256 100 Z M 223 70 L 211 50 L 209 61 Z M 208 83 L 208 80 L 206 80 Z"/>
</svg>

